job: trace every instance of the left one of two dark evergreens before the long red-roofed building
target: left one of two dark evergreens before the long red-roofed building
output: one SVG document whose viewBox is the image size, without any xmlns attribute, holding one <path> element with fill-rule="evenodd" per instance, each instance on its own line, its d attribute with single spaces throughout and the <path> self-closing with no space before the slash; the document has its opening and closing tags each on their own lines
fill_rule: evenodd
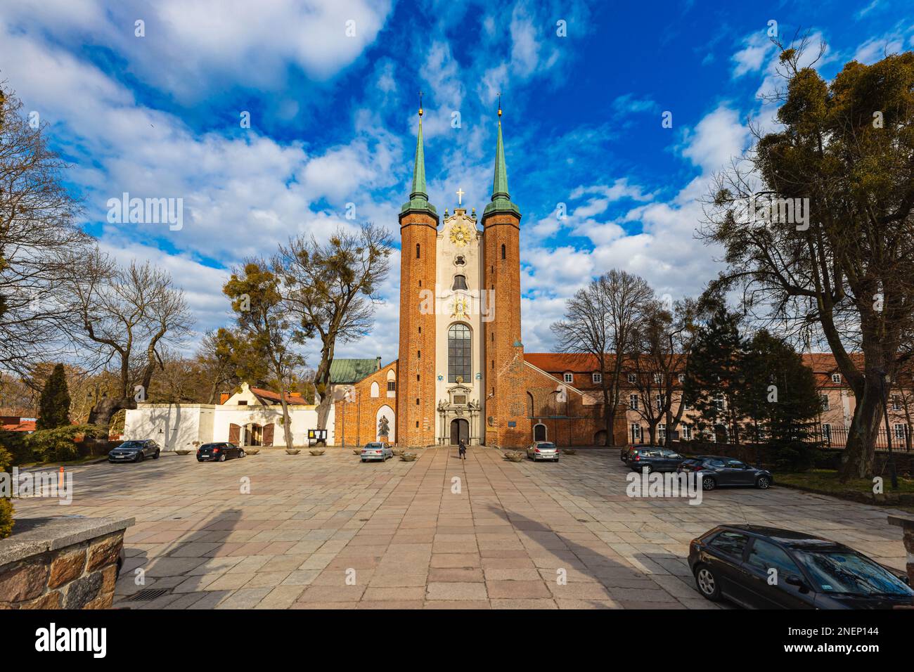
<svg viewBox="0 0 914 672">
<path fill-rule="evenodd" d="M 706 297 L 707 323 L 702 325 L 685 367 L 683 397 L 697 413 L 698 432 L 713 432 L 717 441 L 739 443 L 739 315 L 722 296 Z"/>
</svg>

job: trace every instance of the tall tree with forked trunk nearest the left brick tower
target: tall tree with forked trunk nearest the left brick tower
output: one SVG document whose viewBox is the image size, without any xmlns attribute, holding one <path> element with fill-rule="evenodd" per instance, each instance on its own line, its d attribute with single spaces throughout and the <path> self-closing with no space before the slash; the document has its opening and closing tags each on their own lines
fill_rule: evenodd
<svg viewBox="0 0 914 672">
<path fill-rule="evenodd" d="M 285 303 L 298 318 L 298 340 L 316 337 L 321 342 L 321 359 L 314 369 L 319 429 L 326 427 L 333 402 L 330 365 L 336 345 L 367 336 L 391 250 L 388 229 L 370 223 L 355 233 L 336 229 L 326 243 L 300 236 L 280 246 L 274 268 L 282 275 Z"/>
</svg>

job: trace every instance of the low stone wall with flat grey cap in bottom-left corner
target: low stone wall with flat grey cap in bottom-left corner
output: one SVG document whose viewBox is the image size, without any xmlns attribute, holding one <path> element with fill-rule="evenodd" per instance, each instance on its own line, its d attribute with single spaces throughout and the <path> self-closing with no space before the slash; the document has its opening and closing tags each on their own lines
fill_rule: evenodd
<svg viewBox="0 0 914 672">
<path fill-rule="evenodd" d="M 0 609 L 108 609 L 133 518 L 17 518 L 0 541 Z"/>
</svg>

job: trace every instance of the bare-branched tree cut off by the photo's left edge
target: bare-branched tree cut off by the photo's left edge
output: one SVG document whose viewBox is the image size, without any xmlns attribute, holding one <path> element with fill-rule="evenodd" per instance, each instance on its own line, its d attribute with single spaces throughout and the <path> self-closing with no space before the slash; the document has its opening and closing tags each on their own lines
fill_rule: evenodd
<svg viewBox="0 0 914 672">
<path fill-rule="evenodd" d="M 81 269 L 70 260 L 92 240 L 73 223 L 80 208 L 61 182 L 66 164 L 21 109 L 0 91 L 0 367 L 31 384 L 32 365 L 65 359 L 72 345 L 67 286 Z"/>
</svg>

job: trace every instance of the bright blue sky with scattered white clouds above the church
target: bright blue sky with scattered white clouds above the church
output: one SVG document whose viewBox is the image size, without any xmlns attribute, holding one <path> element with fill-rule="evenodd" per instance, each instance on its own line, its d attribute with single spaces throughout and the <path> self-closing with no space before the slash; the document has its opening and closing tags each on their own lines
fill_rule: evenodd
<svg viewBox="0 0 914 672">
<path fill-rule="evenodd" d="M 461 187 L 483 208 L 501 91 L 524 342 L 540 351 L 565 299 L 601 272 L 639 273 L 674 298 L 716 274 L 716 251 L 695 239 L 697 199 L 748 146 L 749 122 L 773 124 L 760 100 L 778 85 L 770 21 L 785 41 L 798 28 L 823 39 L 816 67 L 830 78 L 914 48 L 912 14 L 890 0 L 18 0 L 0 5 L 0 80 L 72 164 L 86 229 L 121 261 L 172 272 L 199 331 L 230 319 L 232 263 L 351 225 L 347 203 L 397 231 L 420 90 L 431 202 L 452 209 Z M 184 228 L 108 223 L 105 203 L 124 191 L 184 198 Z M 396 357 L 398 284 L 396 255 L 375 333 L 338 354 Z"/>
</svg>

